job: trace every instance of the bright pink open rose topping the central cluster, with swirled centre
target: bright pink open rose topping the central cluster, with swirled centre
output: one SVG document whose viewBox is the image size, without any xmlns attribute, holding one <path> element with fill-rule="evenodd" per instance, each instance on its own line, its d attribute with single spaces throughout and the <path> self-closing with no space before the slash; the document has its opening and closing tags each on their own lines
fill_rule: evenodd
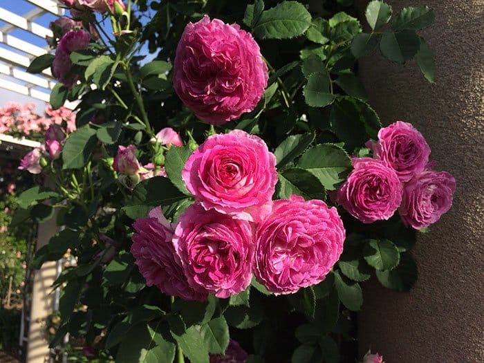
<svg viewBox="0 0 484 363">
<path fill-rule="evenodd" d="M 206 210 L 260 221 L 270 213 L 275 165 L 261 138 L 234 130 L 207 138 L 188 158 L 182 177 Z"/>
</svg>

